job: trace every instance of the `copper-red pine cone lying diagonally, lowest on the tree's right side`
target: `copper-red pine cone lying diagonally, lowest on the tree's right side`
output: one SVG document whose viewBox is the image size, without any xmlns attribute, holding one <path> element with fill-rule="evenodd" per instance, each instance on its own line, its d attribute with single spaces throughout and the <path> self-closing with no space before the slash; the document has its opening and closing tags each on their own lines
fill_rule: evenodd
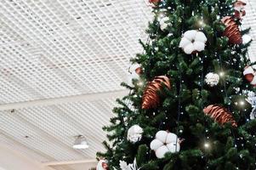
<svg viewBox="0 0 256 170">
<path fill-rule="evenodd" d="M 215 122 L 219 122 L 220 125 L 223 125 L 226 122 L 231 122 L 233 127 L 237 127 L 236 121 L 232 114 L 222 106 L 208 105 L 208 107 L 203 109 L 203 112 L 212 117 Z"/>
</svg>

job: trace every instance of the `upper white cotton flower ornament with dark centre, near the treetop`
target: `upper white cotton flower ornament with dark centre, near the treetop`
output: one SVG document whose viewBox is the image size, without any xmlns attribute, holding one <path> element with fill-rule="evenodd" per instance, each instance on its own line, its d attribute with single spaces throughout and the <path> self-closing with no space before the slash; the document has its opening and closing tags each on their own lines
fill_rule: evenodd
<svg viewBox="0 0 256 170">
<path fill-rule="evenodd" d="M 185 31 L 179 42 L 179 48 L 183 48 L 185 54 L 192 54 L 196 51 L 200 52 L 204 50 L 207 40 L 207 37 L 202 31 Z"/>
</svg>

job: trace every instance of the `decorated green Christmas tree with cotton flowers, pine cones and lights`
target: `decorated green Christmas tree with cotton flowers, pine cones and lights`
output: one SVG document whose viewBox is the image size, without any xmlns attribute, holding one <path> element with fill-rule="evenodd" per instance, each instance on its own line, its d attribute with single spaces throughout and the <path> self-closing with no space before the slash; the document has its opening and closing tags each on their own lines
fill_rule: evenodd
<svg viewBox="0 0 256 170">
<path fill-rule="evenodd" d="M 105 153 L 117 170 L 255 170 L 251 41 L 245 0 L 150 0 L 144 53 L 117 99 Z M 98 168 L 99 169 L 99 168 Z"/>
</svg>

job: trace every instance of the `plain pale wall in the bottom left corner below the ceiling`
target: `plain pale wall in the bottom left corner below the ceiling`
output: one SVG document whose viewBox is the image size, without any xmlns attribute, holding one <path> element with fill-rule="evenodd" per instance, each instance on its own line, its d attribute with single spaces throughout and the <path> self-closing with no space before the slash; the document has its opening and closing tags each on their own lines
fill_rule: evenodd
<svg viewBox="0 0 256 170">
<path fill-rule="evenodd" d="M 0 145 L 0 170 L 53 170 Z"/>
</svg>

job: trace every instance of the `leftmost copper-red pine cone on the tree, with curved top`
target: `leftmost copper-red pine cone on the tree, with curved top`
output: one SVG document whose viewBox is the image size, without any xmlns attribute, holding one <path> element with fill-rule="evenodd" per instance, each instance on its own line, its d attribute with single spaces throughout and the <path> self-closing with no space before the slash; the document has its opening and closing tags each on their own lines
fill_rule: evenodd
<svg viewBox="0 0 256 170">
<path fill-rule="evenodd" d="M 159 105 L 160 97 L 157 91 L 162 89 L 162 83 L 167 88 L 171 88 L 169 78 L 165 76 L 155 77 L 152 82 L 149 82 L 142 97 L 142 109 L 156 108 Z"/>
</svg>

